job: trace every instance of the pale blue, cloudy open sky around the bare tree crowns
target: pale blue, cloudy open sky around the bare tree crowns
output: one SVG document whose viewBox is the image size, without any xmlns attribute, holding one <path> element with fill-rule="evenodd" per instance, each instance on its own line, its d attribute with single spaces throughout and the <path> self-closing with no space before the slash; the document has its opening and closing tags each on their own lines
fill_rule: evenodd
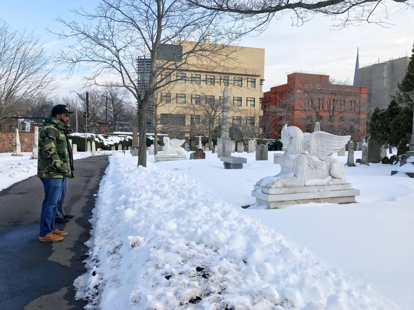
<svg viewBox="0 0 414 310">
<path fill-rule="evenodd" d="M 13 0 L 2 3 L 0 19 L 16 29 L 28 29 L 41 37 L 48 53 L 65 48 L 65 41 L 45 29 L 60 32 L 64 28 L 55 21 L 58 16 L 65 20 L 75 19 L 68 10 L 77 7 L 91 9 L 98 0 Z M 289 16 L 274 19 L 269 27 L 256 37 L 246 37 L 242 46 L 265 49 L 265 83 L 263 91 L 286 83 L 286 74 L 293 71 L 321 72 L 335 79 L 354 77 L 356 51 L 359 47 L 359 64 L 410 56 L 414 43 L 414 10 L 400 10 L 401 5 L 387 0 L 388 28 L 378 24 L 362 24 L 347 29 L 334 29 L 333 21 L 322 15 L 315 16 L 303 26 L 291 26 Z M 384 17 L 381 8 L 375 18 Z M 63 77 L 63 75 L 60 75 Z M 80 76 L 60 81 L 55 94 L 69 95 L 69 91 L 81 88 Z"/>
</svg>

